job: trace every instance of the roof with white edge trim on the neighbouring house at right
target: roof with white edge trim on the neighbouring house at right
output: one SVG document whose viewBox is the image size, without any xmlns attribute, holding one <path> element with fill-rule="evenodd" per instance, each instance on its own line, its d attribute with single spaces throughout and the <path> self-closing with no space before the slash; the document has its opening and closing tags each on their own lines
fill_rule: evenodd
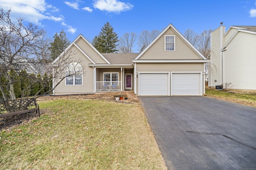
<svg viewBox="0 0 256 170">
<path fill-rule="evenodd" d="M 227 45 L 232 41 L 232 39 L 234 39 L 234 37 L 239 33 L 239 32 L 245 32 L 245 33 L 252 33 L 252 34 L 256 34 L 256 26 L 231 26 L 228 31 L 231 28 L 236 28 L 236 32 L 230 37 L 230 39 L 226 42 L 226 44 L 222 47 L 222 49 L 220 49 L 220 51 L 225 51 Z M 227 32 L 228 32 L 227 31 Z M 227 33 L 226 32 L 226 33 Z M 225 35 L 226 35 L 225 33 Z M 225 36 L 224 35 L 224 36 Z"/>
</svg>

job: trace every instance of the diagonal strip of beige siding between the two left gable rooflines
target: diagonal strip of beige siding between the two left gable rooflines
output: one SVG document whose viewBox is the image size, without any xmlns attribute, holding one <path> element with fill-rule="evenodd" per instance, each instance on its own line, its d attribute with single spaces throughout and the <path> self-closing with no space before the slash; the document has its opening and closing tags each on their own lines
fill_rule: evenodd
<svg viewBox="0 0 256 170">
<path fill-rule="evenodd" d="M 77 42 L 76 45 L 84 51 L 96 64 L 107 64 L 102 57 L 94 50 L 92 47 L 84 41 L 84 39 L 80 38 Z"/>
</svg>

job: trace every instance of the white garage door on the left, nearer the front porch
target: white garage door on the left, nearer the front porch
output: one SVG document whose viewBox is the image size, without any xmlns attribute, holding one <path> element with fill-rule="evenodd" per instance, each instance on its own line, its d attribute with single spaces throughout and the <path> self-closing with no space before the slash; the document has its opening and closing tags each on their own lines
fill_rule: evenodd
<svg viewBox="0 0 256 170">
<path fill-rule="evenodd" d="M 140 96 L 167 96 L 168 73 L 140 73 Z"/>
</svg>

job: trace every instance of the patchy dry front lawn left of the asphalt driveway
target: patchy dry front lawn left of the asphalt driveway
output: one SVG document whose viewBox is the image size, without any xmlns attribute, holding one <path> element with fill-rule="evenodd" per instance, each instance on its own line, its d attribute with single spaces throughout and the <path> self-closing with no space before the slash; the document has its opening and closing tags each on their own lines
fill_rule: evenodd
<svg viewBox="0 0 256 170">
<path fill-rule="evenodd" d="M 0 169 L 167 169 L 139 104 L 39 104 L 49 113 L 0 133 Z"/>
</svg>

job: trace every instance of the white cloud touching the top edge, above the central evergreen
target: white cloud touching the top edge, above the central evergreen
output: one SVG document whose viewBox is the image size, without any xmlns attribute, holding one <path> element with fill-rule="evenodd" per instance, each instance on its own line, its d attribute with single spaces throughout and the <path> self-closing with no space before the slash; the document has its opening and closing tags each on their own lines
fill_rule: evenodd
<svg viewBox="0 0 256 170">
<path fill-rule="evenodd" d="M 94 8 L 107 12 L 122 12 L 131 10 L 132 4 L 120 2 L 118 0 L 94 0 Z"/>
</svg>

